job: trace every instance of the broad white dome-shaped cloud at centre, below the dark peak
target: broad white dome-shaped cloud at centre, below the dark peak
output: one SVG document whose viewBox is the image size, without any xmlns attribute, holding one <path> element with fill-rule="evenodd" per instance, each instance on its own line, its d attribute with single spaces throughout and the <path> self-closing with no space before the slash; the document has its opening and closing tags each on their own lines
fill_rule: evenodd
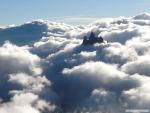
<svg viewBox="0 0 150 113">
<path fill-rule="evenodd" d="M 93 82 L 98 80 L 99 83 L 104 84 L 111 84 L 111 82 L 114 82 L 113 79 L 116 80 L 114 83 L 119 82 L 119 79 L 126 76 L 124 73 L 117 71 L 116 66 L 102 62 L 87 62 L 72 69 L 65 68 L 63 73 L 67 75 L 75 74 L 75 76 L 83 76 L 83 78 L 92 76 Z"/>
</svg>

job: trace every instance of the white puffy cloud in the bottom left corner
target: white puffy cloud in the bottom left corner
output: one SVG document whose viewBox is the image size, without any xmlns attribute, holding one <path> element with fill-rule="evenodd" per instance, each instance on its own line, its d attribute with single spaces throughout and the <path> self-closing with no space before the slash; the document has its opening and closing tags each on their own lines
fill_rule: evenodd
<svg viewBox="0 0 150 113">
<path fill-rule="evenodd" d="M 40 113 L 42 110 L 53 110 L 49 104 L 32 93 L 17 94 L 8 103 L 0 104 L 0 113 Z"/>
</svg>

